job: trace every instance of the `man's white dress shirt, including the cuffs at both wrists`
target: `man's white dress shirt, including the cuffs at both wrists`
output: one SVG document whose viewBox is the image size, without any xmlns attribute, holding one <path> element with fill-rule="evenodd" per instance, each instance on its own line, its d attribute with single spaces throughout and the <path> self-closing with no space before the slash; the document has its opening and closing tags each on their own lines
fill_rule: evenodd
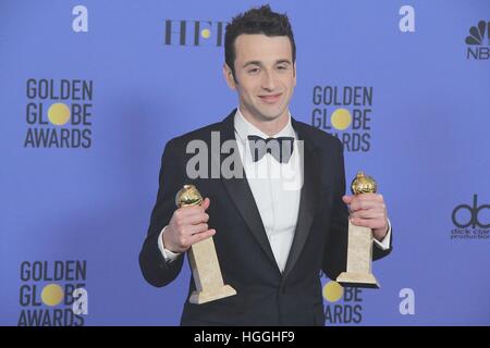
<svg viewBox="0 0 490 348">
<path fill-rule="evenodd" d="M 298 141 L 294 141 L 293 154 L 287 163 L 280 163 L 270 153 L 266 153 L 260 160 L 254 162 L 247 137 L 256 135 L 267 139 L 269 136 L 245 120 L 240 108 L 237 108 L 234 116 L 234 126 L 235 138 L 248 185 L 266 228 L 267 238 L 275 262 L 279 270 L 283 272 L 293 243 L 299 210 L 303 167 L 299 161 L 302 151 L 298 150 Z M 291 115 L 285 127 L 272 137 L 284 136 L 297 139 L 296 133 L 291 125 Z M 166 227 L 158 238 L 158 247 L 167 261 L 173 261 L 179 257 L 179 253 L 171 252 L 164 248 L 162 234 Z M 376 239 L 375 243 L 378 247 L 385 250 L 390 246 L 390 237 L 391 226 L 382 243 Z"/>
</svg>

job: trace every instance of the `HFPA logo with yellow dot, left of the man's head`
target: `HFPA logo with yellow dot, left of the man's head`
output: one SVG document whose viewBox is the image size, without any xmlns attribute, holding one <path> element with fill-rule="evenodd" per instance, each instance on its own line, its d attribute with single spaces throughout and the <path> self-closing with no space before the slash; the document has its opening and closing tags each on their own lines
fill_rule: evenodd
<svg viewBox="0 0 490 348">
<path fill-rule="evenodd" d="M 166 21 L 164 45 L 222 47 L 228 22 Z"/>
</svg>

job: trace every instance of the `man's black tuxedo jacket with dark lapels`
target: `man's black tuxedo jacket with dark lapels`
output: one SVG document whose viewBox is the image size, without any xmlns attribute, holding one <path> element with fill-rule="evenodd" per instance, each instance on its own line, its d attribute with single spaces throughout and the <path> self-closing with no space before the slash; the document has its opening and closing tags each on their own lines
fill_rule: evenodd
<svg viewBox="0 0 490 348">
<path fill-rule="evenodd" d="M 154 286 L 170 284 L 179 275 L 183 256 L 166 262 L 158 248 L 158 236 L 170 222 L 175 194 L 184 184 L 194 184 L 211 200 L 209 226 L 225 284 L 237 295 L 204 304 L 184 304 L 182 325 L 323 325 L 320 274 L 330 278 L 345 271 L 348 211 L 342 201 L 345 191 L 341 142 L 313 126 L 292 120 L 304 140 L 304 184 L 296 231 L 283 273 L 280 272 L 259 211 L 246 178 L 196 178 L 186 175 L 186 153 L 193 139 L 211 146 L 211 132 L 221 142 L 234 139 L 235 110 L 222 122 L 170 140 L 163 151 L 157 202 L 139 264 L 144 277 Z M 209 160 L 221 162 L 209 156 Z M 391 251 L 373 248 L 373 259 Z M 191 277 L 188 295 L 195 290 Z"/>
</svg>

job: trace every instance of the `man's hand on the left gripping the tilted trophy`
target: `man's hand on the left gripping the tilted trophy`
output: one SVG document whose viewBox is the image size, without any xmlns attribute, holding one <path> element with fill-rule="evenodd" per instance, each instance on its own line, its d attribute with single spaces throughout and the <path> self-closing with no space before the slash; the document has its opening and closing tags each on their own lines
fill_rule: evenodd
<svg viewBox="0 0 490 348">
<path fill-rule="evenodd" d="M 215 229 L 208 229 L 209 215 L 206 210 L 209 208 L 209 198 L 206 198 L 200 206 L 182 207 L 175 210 L 170 219 L 170 223 L 163 232 L 163 245 L 166 249 L 181 253 L 203 239 L 216 234 Z"/>
</svg>

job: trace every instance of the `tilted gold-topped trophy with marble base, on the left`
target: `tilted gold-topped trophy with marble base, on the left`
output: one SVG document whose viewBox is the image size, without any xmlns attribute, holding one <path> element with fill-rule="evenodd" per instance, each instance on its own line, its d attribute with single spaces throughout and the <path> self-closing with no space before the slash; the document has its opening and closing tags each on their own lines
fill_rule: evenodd
<svg viewBox="0 0 490 348">
<path fill-rule="evenodd" d="M 175 196 L 175 204 L 181 207 L 200 206 L 203 197 L 194 185 L 184 185 Z M 236 295 L 230 285 L 224 285 L 212 237 L 194 244 L 189 249 L 196 291 L 191 295 L 191 303 L 201 304 Z"/>
</svg>

